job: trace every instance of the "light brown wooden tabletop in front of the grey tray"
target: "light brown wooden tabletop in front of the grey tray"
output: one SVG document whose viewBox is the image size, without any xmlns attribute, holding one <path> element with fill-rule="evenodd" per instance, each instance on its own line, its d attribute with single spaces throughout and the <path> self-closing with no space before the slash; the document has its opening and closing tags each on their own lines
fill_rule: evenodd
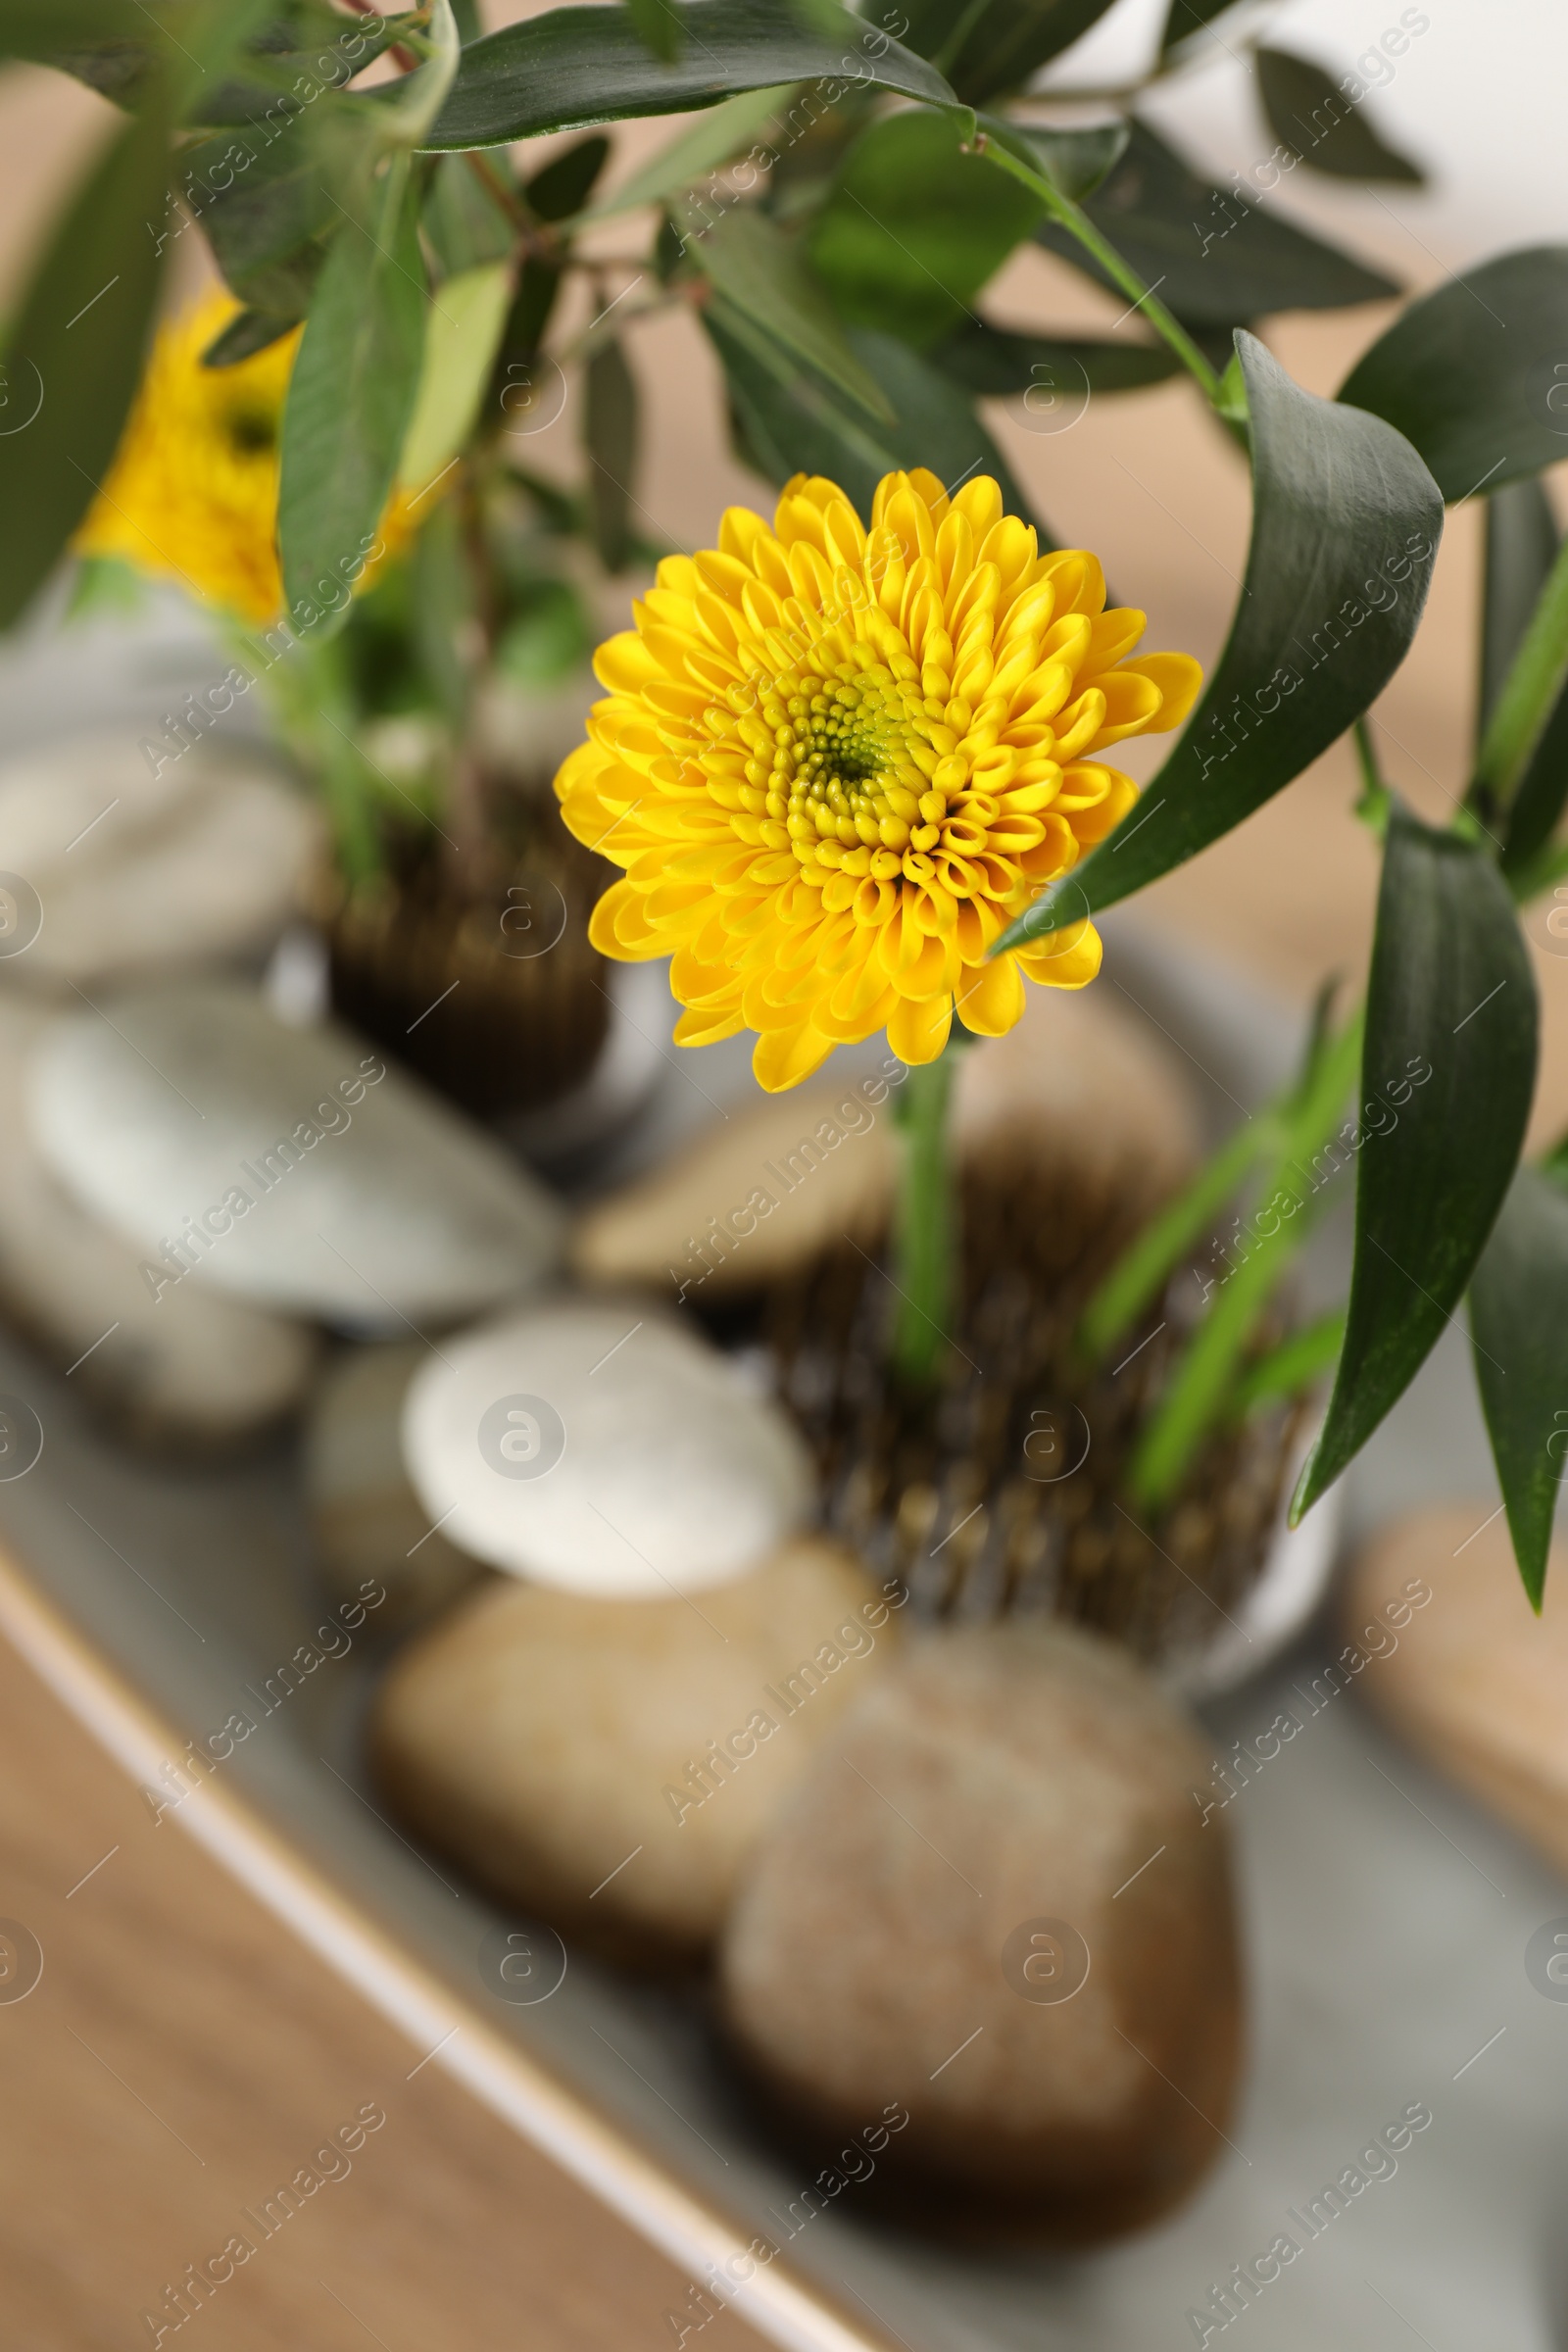
<svg viewBox="0 0 1568 2352">
<path fill-rule="evenodd" d="M 233 2232 L 259 2244 L 188 2321 L 207 2352 L 675 2345 L 691 2281 L 179 1828 L 153 1830 L 2 1644 L 0 1919 L 45 1962 L 26 1999 L 0 1997 L 5 2352 L 150 2345 L 143 2314 Z M 261 2239 L 242 2209 L 301 2166 L 339 2171 L 313 2159 L 362 2107 L 386 2124 Z M 757 2343 L 729 2312 L 703 2331 L 703 2352 Z"/>
</svg>

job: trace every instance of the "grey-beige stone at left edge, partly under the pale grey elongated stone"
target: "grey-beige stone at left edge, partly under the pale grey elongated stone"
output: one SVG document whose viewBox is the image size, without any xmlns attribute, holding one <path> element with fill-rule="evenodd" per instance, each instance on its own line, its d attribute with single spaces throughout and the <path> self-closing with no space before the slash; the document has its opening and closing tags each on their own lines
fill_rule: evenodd
<svg viewBox="0 0 1568 2352">
<path fill-rule="evenodd" d="M 315 1334 L 193 1282 L 155 1301 L 134 1247 L 78 1209 L 21 1120 L 54 1018 L 0 1002 L 0 1303 L 132 1435 L 165 1449 L 244 1437 L 299 1404 Z"/>
</svg>

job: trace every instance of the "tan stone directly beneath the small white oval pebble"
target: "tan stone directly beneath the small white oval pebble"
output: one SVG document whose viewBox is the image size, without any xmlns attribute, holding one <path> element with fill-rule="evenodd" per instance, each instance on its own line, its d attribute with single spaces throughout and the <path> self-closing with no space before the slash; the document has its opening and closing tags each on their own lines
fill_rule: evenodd
<svg viewBox="0 0 1568 2352">
<path fill-rule="evenodd" d="M 400 1818 L 501 1900 L 616 1959 L 693 1959 L 898 1623 L 813 1541 L 696 1599 L 505 1578 L 400 1653 L 376 1771 Z"/>
</svg>

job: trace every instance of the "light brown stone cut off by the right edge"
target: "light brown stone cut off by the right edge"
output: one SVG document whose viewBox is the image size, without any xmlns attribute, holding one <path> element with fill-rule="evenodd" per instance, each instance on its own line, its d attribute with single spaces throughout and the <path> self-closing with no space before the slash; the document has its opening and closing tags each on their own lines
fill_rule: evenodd
<svg viewBox="0 0 1568 2352">
<path fill-rule="evenodd" d="M 1342 1665 L 1436 1771 L 1568 1870 L 1568 1545 L 1535 1616 L 1488 1510 L 1418 1510 L 1363 1548 L 1342 1611 L 1363 1663 Z"/>
</svg>

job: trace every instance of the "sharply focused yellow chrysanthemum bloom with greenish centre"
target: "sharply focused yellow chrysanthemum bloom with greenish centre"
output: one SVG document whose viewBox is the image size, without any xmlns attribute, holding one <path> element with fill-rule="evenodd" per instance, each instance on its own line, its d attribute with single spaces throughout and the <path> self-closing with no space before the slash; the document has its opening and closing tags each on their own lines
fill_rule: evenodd
<svg viewBox="0 0 1568 2352">
<path fill-rule="evenodd" d="M 1201 680 L 1187 654 L 1128 659 L 1145 616 L 1103 607 L 1095 557 L 1041 555 L 985 475 L 947 499 L 891 473 L 870 532 L 820 477 L 771 532 L 731 506 L 599 647 L 609 701 L 555 779 L 625 868 L 595 946 L 670 955 L 677 1044 L 757 1030 L 769 1091 L 879 1028 L 907 1063 L 954 1011 L 997 1037 L 1023 978 L 1081 988 L 1088 922 L 987 953 L 1138 797 L 1098 753 L 1178 727 Z"/>
</svg>

